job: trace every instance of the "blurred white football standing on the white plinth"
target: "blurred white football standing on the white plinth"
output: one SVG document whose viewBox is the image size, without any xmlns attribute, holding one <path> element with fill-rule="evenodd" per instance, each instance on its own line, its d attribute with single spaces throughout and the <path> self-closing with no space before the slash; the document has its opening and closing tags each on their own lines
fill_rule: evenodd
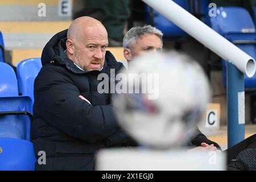
<svg viewBox="0 0 256 182">
<path fill-rule="evenodd" d="M 190 57 L 147 54 L 129 63 L 115 80 L 119 124 L 144 146 L 170 148 L 187 141 L 210 98 L 208 78 Z"/>
</svg>

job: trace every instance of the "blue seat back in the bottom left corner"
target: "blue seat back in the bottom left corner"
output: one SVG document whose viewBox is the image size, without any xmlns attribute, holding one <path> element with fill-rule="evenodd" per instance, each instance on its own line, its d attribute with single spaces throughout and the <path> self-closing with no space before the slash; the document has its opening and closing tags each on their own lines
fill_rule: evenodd
<svg viewBox="0 0 256 182">
<path fill-rule="evenodd" d="M 31 142 L 0 138 L 0 171 L 34 171 L 35 153 Z"/>
</svg>

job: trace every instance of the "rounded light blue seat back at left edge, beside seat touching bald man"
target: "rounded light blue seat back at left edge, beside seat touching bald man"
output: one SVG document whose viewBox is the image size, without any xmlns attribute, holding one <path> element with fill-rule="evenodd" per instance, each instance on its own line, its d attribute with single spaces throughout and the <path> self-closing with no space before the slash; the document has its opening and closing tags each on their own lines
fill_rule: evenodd
<svg viewBox="0 0 256 182">
<path fill-rule="evenodd" d="M 9 64 L 0 62 L 0 97 L 18 96 L 17 78 Z"/>
</svg>

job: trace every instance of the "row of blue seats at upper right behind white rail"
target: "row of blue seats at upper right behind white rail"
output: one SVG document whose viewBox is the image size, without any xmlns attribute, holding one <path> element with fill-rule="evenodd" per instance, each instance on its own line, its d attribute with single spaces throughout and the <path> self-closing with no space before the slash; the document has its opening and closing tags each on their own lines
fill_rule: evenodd
<svg viewBox="0 0 256 182">
<path fill-rule="evenodd" d="M 191 10 L 188 1 L 176 0 L 175 2 L 185 10 Z M 196 13 L 200 12 L 201 20 L 212 27 L 218 34 L 224 36 L 224 38 L 228 39 L 256 59 L 256 31 L 255 23 L 253 21 L 254 17 L 251 18 L 249 12 L 242 7 L 218 7 L 216 11 L 217 16 L 210 17 L 208 15 L 209 1 L 200 1 L 200 3 L 200 8 L 195 8 L 195 10 Z M 256 15 L 256 9 L 254 10 L 254 15 Z M 154 24 L 159 30 L 162 30 L 164 38 L 182 39 L 187 36 L 183 30 L 157 11 L 152 10 L 149 6 L 147 6 L 147 22 Z M 224 88 L 226 88 L 226 61 L 222 59 L 221 64 L 222 82 Z M 252 78 L 245 76 L 245 88 L 256 88 L 256 75 Z"/>
</svg>

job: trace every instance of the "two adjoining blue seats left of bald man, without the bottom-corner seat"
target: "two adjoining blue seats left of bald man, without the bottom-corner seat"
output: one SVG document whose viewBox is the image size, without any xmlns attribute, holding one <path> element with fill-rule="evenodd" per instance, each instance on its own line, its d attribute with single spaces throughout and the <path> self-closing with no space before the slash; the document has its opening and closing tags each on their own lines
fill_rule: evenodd
<svg viewBox="0 0 256 182">
<path fill-rule="evenodd" d="M 0 118 L 1 138 L 30 140 L 30 120 L 32 119 L 32 105 L 34 102 L 34 80 L 41 67 L 40 59 L 21 61 L 17 67 L 17 79 L 10 65 L 0 63 L 0 111 L 5 112 L 1 113 L 1 115 L 6 114 L 5 117 Z M 7 113 L 10 111 L 26 113 Z M 20 120 L 23 121 L 20 122 Z"/>
</svg>

